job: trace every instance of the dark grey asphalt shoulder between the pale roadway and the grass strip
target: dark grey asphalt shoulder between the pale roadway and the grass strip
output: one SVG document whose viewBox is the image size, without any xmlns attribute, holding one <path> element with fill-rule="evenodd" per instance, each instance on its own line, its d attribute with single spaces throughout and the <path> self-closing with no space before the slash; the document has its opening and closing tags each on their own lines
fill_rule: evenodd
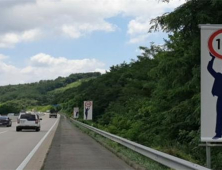
<svg viewBox="0 0 222 170">
<path fill-rule="evenodd" d="M 133 170 L 61 116 L 43 170 Z"/>
</svg>

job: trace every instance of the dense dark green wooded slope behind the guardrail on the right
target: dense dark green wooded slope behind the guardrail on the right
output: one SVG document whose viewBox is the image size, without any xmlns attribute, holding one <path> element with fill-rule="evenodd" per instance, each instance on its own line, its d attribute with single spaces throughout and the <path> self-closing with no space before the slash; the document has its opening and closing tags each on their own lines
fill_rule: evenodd
<svg viewBox="0 0 222 170">
<path fill-rule="evenodd" d="M 221 0 L 187 0 L 152 20 L 150 31 L 169 33 L 162 46 L 141 47 L 138 60 L 58 95 L 67 113 L 92 100 L 93 125 L 141 144 L 200 164 L 200 29 L 222 23 Z M 213 166 L 222 169 L 221 150 Z"/>
</svg>

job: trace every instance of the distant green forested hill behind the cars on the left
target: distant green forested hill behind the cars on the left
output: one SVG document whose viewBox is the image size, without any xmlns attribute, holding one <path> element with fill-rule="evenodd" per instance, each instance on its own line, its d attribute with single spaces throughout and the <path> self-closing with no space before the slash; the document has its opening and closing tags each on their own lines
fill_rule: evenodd
<svg viewBox="0 0 222 170">
<path fill-rule="evenodd" d="M 53 103 L 58 92 L 75 87 L 81 82 L 99 77 L 101 74 L 78 73 L 55 80 L 41 80 L 36 83 L 0 86 L 0 114 L 18 113 L 32 106 L 44 106 Z"/>
</svg>

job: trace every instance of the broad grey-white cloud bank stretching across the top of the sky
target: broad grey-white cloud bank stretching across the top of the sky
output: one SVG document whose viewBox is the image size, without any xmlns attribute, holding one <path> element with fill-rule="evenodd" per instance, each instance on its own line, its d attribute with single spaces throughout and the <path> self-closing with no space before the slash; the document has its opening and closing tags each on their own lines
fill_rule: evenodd
<svg viewBox="0 0 222 170">
<path fill-rule="evenodd" d="M 185 0 L 29 0 L 0 1 L 0 47 L 13 47 L 23 41 L 44 36 L 66 36 L 76 39 L 94 31 L 115 31 L 107 19 L 122 15 L 131 17 L 130 38 L 146 34 L 149 20 L 170 11 Z M 140 36 L 140 35 L 139 35 Z M 131 42 L 133 40 L 130 40 Z"/>
</svg>

